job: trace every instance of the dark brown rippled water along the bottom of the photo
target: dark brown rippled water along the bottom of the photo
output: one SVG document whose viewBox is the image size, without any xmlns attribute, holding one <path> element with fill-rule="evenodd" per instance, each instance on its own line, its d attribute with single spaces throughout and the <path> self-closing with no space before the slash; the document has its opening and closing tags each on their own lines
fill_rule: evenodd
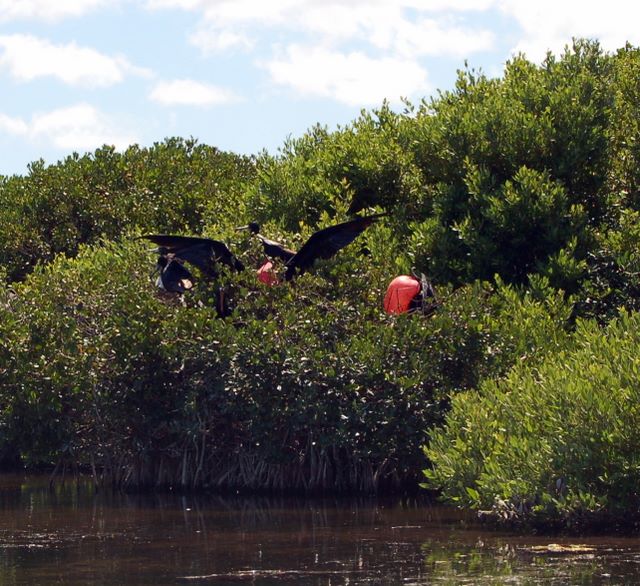
<svg viewBox="0 0 640 586">
<path fill-rule="evenodd" d="M 416 500 L 94 494 L 0 476 L 0 586 L 14 584 L 640 584 L 640 539 L 496 533 Z"/>
</svg>

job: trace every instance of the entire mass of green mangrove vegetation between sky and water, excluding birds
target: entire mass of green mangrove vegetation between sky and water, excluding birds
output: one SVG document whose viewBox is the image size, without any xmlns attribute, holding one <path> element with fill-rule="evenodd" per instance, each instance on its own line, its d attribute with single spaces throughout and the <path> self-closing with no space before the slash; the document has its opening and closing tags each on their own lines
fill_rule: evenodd
<svg viewBox="0 0 640 586">
<path fill-rule="evenodd" d="M 1 177 L 4 460 L 306 491 L 427 467 L 498 519 L 638 516 L 639 107 L 640 50 L 577 41 L 275 156 L 170 139 Z M 295 248 L 363 210 L 389 216 L 292 286 L 224 274 L 228 319 L 204 279 L 158 292 L 135 239 L 212 236 L 257 267 L 235 226 Z M 387 316 L 411 269 L 438 311 Z"/>
</svg>

